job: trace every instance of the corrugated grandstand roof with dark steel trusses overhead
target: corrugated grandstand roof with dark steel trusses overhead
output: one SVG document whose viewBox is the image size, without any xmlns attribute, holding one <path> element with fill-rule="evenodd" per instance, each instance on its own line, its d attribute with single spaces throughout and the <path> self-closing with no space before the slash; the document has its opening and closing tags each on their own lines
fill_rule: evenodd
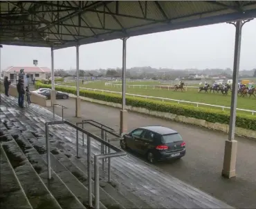
<svg viewBox="0 0 256 209">
<path fill-rule="evenodd" d="M 65 48 L 256 17 L 256 1 L 1 1 L 0 43 Z"/>
</svg>

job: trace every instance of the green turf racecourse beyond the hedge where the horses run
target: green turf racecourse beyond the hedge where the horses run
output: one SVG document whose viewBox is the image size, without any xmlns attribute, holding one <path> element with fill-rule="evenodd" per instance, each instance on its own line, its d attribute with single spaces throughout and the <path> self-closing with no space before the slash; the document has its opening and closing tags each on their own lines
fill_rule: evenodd
<svg viewBox="0 0 256 209">
<path fill-rule="evenodd" d="M 120 83 L 114 82 L 113 84 L 120 84 Z M 76 83 L 75 82 L 62 83 L 61 85 L 76 86 Z M 129 86 L 129 85 L 138 85 L 138 86 Z M 143 85 L 147 85 L 147 88 Z M 199 103 L 208 103 L 208 104 L 217 105 L 217 106 L 230 107 L 231 92 L 228 92 L 228 95 L 223 95 L 221 93 L 214 94 L 214 93 L 211 93 L 210 90 L 208 94 L 207 93 L 205 94 L 203 91 L 199 93 L 198 88 L 196 87 L 198 85 L 196 84 L 190 85 L 190 86 L 195 86 L 196 88 L 188 88 L 188 91 L 181 92 L 181 90 L 178 90 L 177 92 L 174 92 L 173 89 L 167 90 L 167 89 L 156 88 L 156 86 L 160 86 L 160 85 L 161 86 L 170 85 L 170 83 L 159 83 L 158 81 L 127 82 L 127 93 L 140 94 L 140 95 L 151 96 L 151 97 L 178 99 L 183 101 L 193 101 L 193 102 L 199 102 Z M 155 86 L 155 88 L 153 86 Z M 82 82 L 81 82 L 80 87 L 93 88 L 98 90 L 110 90 L 114 92 L 122 92 L 121 85 L 112 85 L 112 86 L 105 85 L 103 81 L 94 81 L 91 83 L 84 82 L 84 85 L 82 85 Z M 168 102 L 177 103 L 176 101 L 168 101 Z M 195 106 L 195 104 L 191 104 L 191 105 Z M 199 106 L 202 106 L 202 105 L 199 105 Z M 211 106 L 204 106 L 204 107 L 215 108 Z M 237 101 L 237 108 L 247 109 L 247 110 L 256 110 L 256 97 L 252 96 L 250 98 L 249 97 L 243 98 L 239 96 Z M 226 110 L 228 111 L 228 109 Z M 251 114 L 251 113 L 248 113 L 248 114 Z"/>
</svg>

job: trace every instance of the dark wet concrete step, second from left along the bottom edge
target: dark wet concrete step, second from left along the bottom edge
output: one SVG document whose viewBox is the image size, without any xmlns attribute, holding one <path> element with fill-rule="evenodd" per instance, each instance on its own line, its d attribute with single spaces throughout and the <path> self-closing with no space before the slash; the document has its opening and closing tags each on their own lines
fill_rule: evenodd
<svg viewBox="0 0 256 209">
<path fill-rule="evenodd" d="M 30 205 L 34 209 L 61 209 L 12 136 L 1 143 Z"/>
</svg>

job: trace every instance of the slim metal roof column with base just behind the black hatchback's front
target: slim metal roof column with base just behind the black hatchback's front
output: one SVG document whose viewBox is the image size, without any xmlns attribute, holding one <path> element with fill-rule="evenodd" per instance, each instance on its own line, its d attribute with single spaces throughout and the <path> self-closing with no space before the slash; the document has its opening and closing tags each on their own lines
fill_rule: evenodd
<svg viewBox="0 0 256 209">
<path fill-rule="evenodd" d="M 125 110 L 125 73 L 126 73 L 126 41 L 127 37 L 122 39 L 122 110 L 120 110 L 120 135 L 127 132 L 127 110 Z"/>
</svg>

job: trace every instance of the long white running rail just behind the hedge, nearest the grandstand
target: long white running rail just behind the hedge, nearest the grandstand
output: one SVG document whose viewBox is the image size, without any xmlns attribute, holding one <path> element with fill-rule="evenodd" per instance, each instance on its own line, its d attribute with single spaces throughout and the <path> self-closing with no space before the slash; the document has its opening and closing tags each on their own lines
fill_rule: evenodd
<svg viewBox="0 0 256 209">
<path fill-rule="evenodd" d="M 75 86 L 66 86 L 66 87 L 71 87 L 71 88 L 76 88 Z M 80 87 L 82 88 L 82 87 Z M 113 93 L 113 94 L 122 94 L 122 92 L 114 92 L 110 90 L 101 90 L 101 89 L 95 89 L 95 88 L 82 88 L 84 90 L 91 90 L 91 91 L 99 91 L 99 92 L 107 92 L 107 93 Z M 199 106 L 210 106 L 210 107 L 215 107 L 215 108 L 221 108 L 223 111 L 225 109 L 230 109 L 230 107 L 226 106 L 217 106 L 217 105 L 212 105 L 210 103 L 200 103 L 200 102 L 195 102 L 195 101 L 184 101 L 184 100 L 179 100 L 179 99 L 169 99 L 169 98 L 164 98 L 164 97 L 151 97 L 151 96 L 146 96 L 146 95 L 140 95 L 140 94 L 129 94 L 126 93 L 126 95 L 129 95 L 131 97 L 143 97 L 145 99 L 159 99 L 161 101 L 176 101 L 177 103 L 190 103 L 190 104 L 195 104 L 196 108 L 199 108 Z M 237 108 L 239 111 L 244 111 L 244 112 L 250 112 L 252 115 L 256 114 L 256 110 L 246 110 L 246 109 L 241 109 Z"/>
</svg>

